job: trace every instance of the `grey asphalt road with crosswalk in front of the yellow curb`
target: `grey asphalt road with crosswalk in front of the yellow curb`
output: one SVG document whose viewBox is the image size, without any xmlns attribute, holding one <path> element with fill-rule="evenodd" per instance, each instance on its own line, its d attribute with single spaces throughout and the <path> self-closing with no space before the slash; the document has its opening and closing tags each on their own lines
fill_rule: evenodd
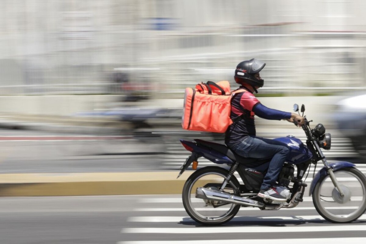
<svg viewBox="0 0 366 244">
<path fill-rule="evenodd" d="M 194 222 L 180 195 L 0 198 L 0 218 L 1 244 L 355 244 L 366 240 L 365 215 L 354 223 L 331 224 L 307 198 L 294 209 L 242 207 L 219 227 Z"/>
</svg>

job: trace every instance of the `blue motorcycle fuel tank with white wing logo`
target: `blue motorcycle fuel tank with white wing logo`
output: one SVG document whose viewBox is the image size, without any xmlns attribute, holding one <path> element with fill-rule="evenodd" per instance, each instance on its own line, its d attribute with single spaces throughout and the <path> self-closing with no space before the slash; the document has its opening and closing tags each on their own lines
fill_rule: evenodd
<svg viewBox="0 0 366 244">
<path fill-rule="evenodd" d="M 291 153 L 286 160 L 291 164 L 301 164 L 313 157 L 313 154 L 311 154 L 304 143 L 295 136 L 288 135 L 286 137 L 275 138 L 275 140 L 286 143 L 291 148 Z"/>
</svg>

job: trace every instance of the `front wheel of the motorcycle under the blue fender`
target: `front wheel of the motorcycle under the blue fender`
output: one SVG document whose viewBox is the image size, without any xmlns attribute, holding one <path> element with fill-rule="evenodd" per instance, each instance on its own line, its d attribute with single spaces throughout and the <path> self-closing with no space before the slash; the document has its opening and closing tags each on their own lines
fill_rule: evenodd
<svg viewBox="0 0 366 244">
<path fill-rule="evenodd" d="M 348 223 L 359 218 L 366 210 L 366 177 L 356 168 L 342 168 L 334 172 L 344 196 L 339 194 L 329 175 L 315 185 L 315 209 L 333 223 Z"/>
</svg>

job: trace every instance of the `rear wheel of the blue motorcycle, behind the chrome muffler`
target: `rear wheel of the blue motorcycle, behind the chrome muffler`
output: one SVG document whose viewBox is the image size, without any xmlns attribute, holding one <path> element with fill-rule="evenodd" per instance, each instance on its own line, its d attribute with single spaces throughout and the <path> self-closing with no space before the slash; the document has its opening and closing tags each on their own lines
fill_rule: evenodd
<svg viewBox="0 0 366 244">
<path fill-rule="evenodd" d="M 182 199 L 184 209 L 192 219 L 203 225 L 221 225 L 234 218 L 240 209 L 239 204 L 195 197 L 198 187 L 219 190 L 228 174 L 229 171 L 226 169 L 209 166 L 197 170 L 188 177 L 183 187 Z M 239 181 L 232 176 L 224 192 L 239 196 L 239 189 Z"/>
</svg>

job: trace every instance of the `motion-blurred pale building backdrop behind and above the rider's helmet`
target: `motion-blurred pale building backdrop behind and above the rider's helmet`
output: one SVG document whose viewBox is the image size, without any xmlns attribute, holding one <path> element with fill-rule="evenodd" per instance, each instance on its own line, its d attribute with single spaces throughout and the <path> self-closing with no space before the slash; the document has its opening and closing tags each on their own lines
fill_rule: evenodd
<svg viewBox="0 0 366 244">
<path fill-rule="evenodd" d="M 363 0 L 1 0 L 0 94 L 182 98 L 201 81 L 233 82 L 253 57 L 267 63 L 261 94 L 360 89 L 365 10 Z"/>
</svg>

